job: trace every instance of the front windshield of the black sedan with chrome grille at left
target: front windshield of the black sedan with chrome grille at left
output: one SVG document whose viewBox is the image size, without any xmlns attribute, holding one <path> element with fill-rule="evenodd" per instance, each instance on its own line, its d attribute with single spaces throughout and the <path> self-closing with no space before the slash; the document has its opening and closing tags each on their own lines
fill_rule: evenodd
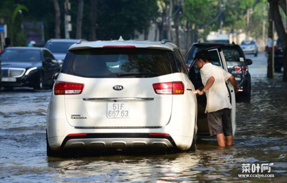
<svg viewBox="0 0 287 183">
<path fill-rule="evenodd" d="M 40 61 L 40 50 L 8 49 L 5 50 L 0 59 L 2 61 Z"/>
</svg>

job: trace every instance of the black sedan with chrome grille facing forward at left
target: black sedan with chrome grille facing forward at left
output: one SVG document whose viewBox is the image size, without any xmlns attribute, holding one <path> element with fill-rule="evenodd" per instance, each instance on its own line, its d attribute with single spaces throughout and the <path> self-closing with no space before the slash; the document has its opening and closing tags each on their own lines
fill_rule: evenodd
<svg viewBox="0 0 287 183">
<path fill-rule="evenodd" d="M 10 47 L 0 55 L 1 85 L 6 88 L 28 86 L 34 89 L 49 88 L 52 76 L 60 65 L 46 48 Z"/>
</svg>

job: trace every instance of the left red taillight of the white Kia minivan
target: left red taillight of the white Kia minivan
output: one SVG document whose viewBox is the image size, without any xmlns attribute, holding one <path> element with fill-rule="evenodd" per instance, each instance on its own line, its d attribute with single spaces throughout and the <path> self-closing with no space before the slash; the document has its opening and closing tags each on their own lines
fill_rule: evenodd
<svg viewBox="0 0 287 183">
<path fill-rule="evenodd" d="M 83 92 L 84 84 L 57 81 L 54 87 L 55 95 L 78 95 Z"/>
</svg>

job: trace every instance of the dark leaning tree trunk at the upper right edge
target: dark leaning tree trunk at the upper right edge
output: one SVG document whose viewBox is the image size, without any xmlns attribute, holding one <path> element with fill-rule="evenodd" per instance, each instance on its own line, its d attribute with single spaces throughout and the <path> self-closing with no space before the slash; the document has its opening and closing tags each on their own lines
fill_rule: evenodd
<svg viewBox="0 0 287 183">
<path fill-rule="evenodd" d="M 278 0 L 268 0 L 269 5 L 270 5 L 270 10 L 271 10 L 271 15 L 274 20 L 275 28 L 277 31 L 277 34 L 279 36 L 279 39 L 282 44 L 282 51 L 283 51 L 283 58 L 284 58 L 284 71 L 283 71 L 283 81 L 287 81 L 287 34 L 285 32 L 283 22 L 281 15 L 279 13 L 279 4 Z"/>
</svg>

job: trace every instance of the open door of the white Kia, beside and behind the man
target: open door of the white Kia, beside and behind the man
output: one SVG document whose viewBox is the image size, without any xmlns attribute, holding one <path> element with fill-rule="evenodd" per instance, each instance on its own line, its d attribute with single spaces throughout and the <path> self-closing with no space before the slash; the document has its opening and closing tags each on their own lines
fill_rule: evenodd
<svg viewBox="0 0 287 183">
<path fill-rule="evenodd" d="M 209 48 L 207 49 L 210 53 L 210 62 L 213 65 L 217 65 L 222 67 L 226 71 L 228 71 L 227 63 L 224 57 L 224 53 L 220 47 L 217 48 Z M 195 87 L 195 89 L 202 89 L 203 84 L 201 81 L 201 76 L 199 69 L 197 69 L 195 61 L 191 63 L 190 70 L 189 70 L 190 79 Z M 235 93 L 233 85 L 228 82 L 227 88 L 230 95 L 230 102 L 232 105 L 231 110 L 231 120 L 232 120 L 232 131 L 233 135 L 236 132 L 236 105 L 235 105 Z M 204 113 L 206 107 L 206 96 L 197 96 L 197 127 L 198 127 L 198 134 L 200 135 L 209 135 L 208 130 L 208 123 L 207 123 L 207 115 Z"/>
</svg>

